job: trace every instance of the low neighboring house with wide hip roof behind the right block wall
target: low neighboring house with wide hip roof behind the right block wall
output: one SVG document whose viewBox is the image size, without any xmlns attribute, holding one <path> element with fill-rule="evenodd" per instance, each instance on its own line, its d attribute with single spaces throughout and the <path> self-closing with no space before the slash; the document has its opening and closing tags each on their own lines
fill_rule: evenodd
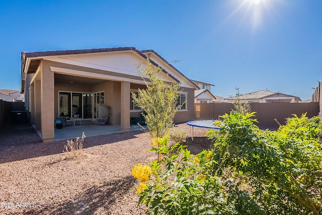
<svg viewBox="0 0 322 215">
<path fill-rule="evenodd" d="M 237 99 L 236 96 L 226 98 L 229 103 L 233 103 L 233 100 Z M 297 96 L 291 96 L 284 93 L 275 93 L 271 91 L 260 90 L 253 93 L 247 93 L 239 96 L 240 102 L 259 102 L 259 103 L 294 103 L 300 102 L 301 99 Z"/>
</svg>

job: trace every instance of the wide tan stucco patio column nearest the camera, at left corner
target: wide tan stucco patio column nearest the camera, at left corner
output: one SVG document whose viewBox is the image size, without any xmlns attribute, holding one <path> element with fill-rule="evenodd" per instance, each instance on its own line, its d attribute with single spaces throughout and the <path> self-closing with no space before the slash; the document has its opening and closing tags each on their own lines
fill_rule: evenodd
<svg viewBox="0 0 322 215">
<path fill-rule="evenodd" d="M 41 69 L 41 139 L 43 142 L 54 139 L 54 73 L 42 61 Z"/>
</svg>

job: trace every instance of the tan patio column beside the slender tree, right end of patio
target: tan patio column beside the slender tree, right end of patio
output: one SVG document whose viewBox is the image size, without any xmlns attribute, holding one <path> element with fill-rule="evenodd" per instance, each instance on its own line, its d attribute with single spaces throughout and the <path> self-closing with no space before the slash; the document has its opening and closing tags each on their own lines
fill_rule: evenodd
<svg viewBox="0 0 322 215">
<path fill-rule="evenodd" d="M 130 83 L 121 82 L 121 129 L 130 130 Z"/>
</svg>

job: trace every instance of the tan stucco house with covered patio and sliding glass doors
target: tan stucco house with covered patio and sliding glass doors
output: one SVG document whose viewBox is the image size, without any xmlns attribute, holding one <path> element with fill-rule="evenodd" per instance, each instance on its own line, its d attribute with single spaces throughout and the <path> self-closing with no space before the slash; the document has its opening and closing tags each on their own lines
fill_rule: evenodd
<svg viewBox="0 0 322 215">
<path fill-rule="evenodd" d="M 21 91 L 25 93 L 26 110 L 41 139 L 54 138 L 55 116 L 81 119 L 98 117 L 98 106 L 109 108 L 109 124 L 130 128 L 130 118 L 142 111 L 131 99 L 131 92 L 144 89 L 139 69 L 134 63 L 150 59 L 163 68 L 168 82 L 181 83 L 175 122 L 194 119 L 194 91 L 198 86 L 154 50 L 135 47 L 62 50 L 21 53 Z"/>
</svg>

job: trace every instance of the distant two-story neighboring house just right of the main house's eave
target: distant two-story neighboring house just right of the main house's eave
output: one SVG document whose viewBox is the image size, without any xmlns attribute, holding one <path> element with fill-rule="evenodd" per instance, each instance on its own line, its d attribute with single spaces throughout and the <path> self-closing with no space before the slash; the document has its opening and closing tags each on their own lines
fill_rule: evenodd
<svg viewBox="0 0 322 215">
<path fill-rule="evenodd" d="M 195 103 L 211 103 L 216 99 L 216 97 L 211 93 L 211 86 L 214 85 L 196 80 L 191 81 L 200 88 L 200 90 L 195 90 Z"/>
</svg>

